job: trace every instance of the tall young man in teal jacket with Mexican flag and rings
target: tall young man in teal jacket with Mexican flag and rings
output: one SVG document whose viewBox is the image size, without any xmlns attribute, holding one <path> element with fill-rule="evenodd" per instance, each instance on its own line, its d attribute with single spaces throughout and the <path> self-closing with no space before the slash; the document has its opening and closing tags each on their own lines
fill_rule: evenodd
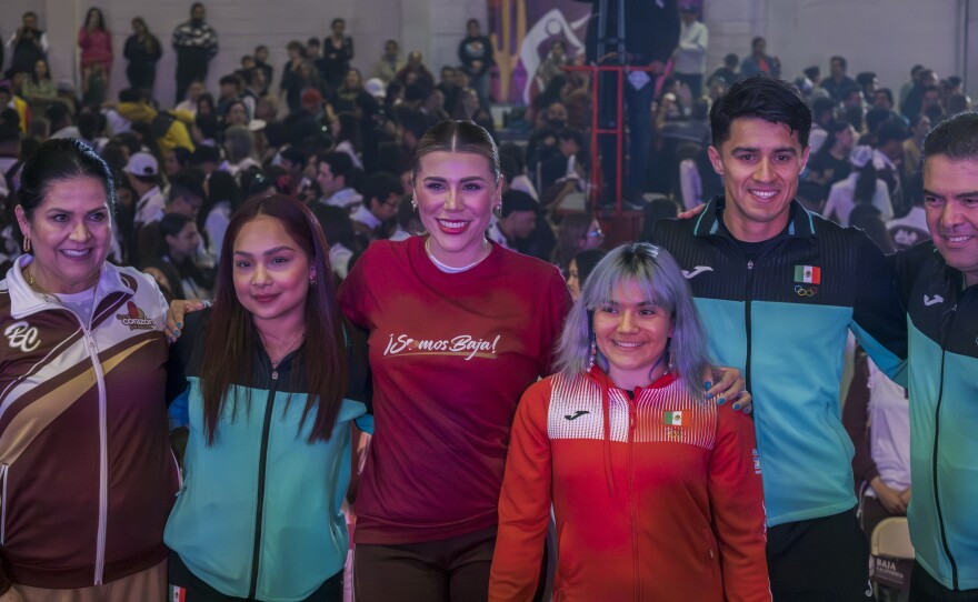
<svg viewBox="0 0 978 602">
<path fill-rule="evenodd" d="M 890 270 L 860 230 L 794 200 L 811 129 L 796 88 L 748 78 L 717 101 L 710 124 L 725 194 L 698 218 L 659 221 L 653 239 L 692 288 L 713 360 L 740 367 L 754 395 L 775 600 L 867 600 L 839 378 L 850 329 L 884 371 L 904 378 Z"/>
</svg>

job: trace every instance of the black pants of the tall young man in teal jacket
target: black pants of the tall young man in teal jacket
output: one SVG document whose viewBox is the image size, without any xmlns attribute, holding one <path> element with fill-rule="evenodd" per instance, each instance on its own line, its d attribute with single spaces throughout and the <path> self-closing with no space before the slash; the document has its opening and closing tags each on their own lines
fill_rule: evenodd
<svg viewBox="0 0 978 602">
<path fill-rule="evenodd" d="M 869 543 L 851 510 L 768 529 L 775 602 L 866 602 Z"/>
</svg>

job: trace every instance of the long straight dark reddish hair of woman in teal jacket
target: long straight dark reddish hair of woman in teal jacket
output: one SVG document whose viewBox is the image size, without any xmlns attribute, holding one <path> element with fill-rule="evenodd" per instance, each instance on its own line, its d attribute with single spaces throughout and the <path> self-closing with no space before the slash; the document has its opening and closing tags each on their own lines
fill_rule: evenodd
<svg viewBox="0 0 978 602">
<path fill-rule="evenodd" d="M 306 298 L 306 341 L 299 348 L 297 360 L 301 362 L 308 391 L 299 428 L 302 429 L 315 410 L 309 442 L 326 441 L 332 433 L 347 391 L 342 318 L 336 301 L 329 251 L 312 212 L 290 197 L 272 194 L 246 202 L 231 219 L 221 245 L 213 311 L 204 337 L 207 361 L 201 369 L 207 442 L 213 444 L 231 384 L 243 379 L 243 384 L 250 385 L 255 378 L 253 349 L 260 343 L 251 314 L 241 305 L 234 291 L 233 245 L 241 229 L 259 217 L 278 220 L 307 254 L 310 265 L 316 268 L 316 279 L 310 281 Z"/>
</svg>

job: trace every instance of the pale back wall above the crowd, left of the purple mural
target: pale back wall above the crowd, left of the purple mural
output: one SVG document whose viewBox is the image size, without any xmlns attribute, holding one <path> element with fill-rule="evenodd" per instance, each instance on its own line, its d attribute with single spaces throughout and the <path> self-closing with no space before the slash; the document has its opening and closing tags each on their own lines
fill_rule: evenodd
<svg viewBox="0 0 978 602">
<path fill-rule="evenodd" d="M 122 49 L 131 33 L 133 17 L 142 17 L 163 46 L 157 63 L 156 96 L 163 104 L 173 101 L 176 57 L 170 46 L 173 28 L 188 19 L 190 1 L 172 0 L 0 0 L 0 34 L 4 41 L 20 24 L 20 16 L 33 10 L 48 32 L 49 59 L 56 79 L 76 78 L 76 37 L 89 7 L 99 6 L 112 31 L 117 60 L 112 69 L 110 96 L 127 86 Z M 220 52 L 211 61 L 208 89 L 217 91 L 221 76 L 238 68 L 243 54 L 258 44 L 271 51 L 276 88 L 281 67 L 288 60 L 286 44 L 293 39 L 325 37 L 336 17 L 347 21 L 353 37 L 353 66 L 370 77 L 383 42 L 397 39 L 402 53 L 420 50 L 436 73 L 445 64 L 458 62 L 457 47 L 465 36 L 466 20 L 486 22 L 486 0 L 206 0 L 207 18 L 218 31 Z M 7 66 L 10 53 L 7 52 Z"/>
</svg>

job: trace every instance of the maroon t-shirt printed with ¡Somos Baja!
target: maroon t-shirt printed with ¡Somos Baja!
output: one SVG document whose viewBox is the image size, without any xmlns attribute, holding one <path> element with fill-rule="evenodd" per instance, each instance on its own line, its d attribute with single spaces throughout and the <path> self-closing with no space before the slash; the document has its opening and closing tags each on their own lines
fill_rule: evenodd
<svg viewBox="0 0 978 602">
<path fill-rule="evenodd" d="M 512 417 L 550 373 L 570 295 L 553 265 L 492 245 L 440 271 L 425 238 L 378 241 L 340 288 L 370 331 L 375 439 L 357 494 L 357 543 L 453 538 L 497 523 Z"/>
</svg>

